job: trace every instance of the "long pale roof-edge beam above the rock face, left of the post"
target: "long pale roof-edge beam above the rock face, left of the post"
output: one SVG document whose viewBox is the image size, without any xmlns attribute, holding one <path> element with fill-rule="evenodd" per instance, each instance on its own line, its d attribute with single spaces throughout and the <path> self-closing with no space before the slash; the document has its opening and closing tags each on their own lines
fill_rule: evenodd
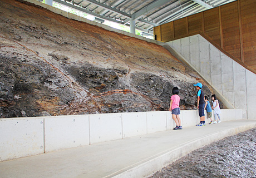
<svg viewBox="0 0 256 178">
<path fill-rule="evenodd" d="M 105 16 L 101 16 L 100 14 L 97 14 L 97 13 L 94 13 L 94 12 L 91 12 L 91 11 L 88 11 L 86 10 L 85 8 L 82 8 L 80 6 L 74 6 L 73 4 L 70 4 L 70 3 L 67 3 L 67 2 L 64 2 L 64 1 L 61 1 L 61 0 L 53 0 L 57 3 L 60 3 L 60 4 L 63 4 L 67 7 L 71 7 L 73 9 L 77 9 L 78 11 L 82 11 L 82 12 L 85 12 L 87 14 L 91 14 L 92 16 L 95 16 L 95 17 L 99 17 L 99 18 L 102 18 L 102 19 L 106 19 L 107 21 L 111 21 L 111 22 L 116 22 L 116 23 L 120 23 L 120 24 L 124 24 L 122 23 L 121 21 L 116 21 L 115 19 L 113 18 L 109 18 L 109 17 L 105 17 Z"/>
</svg>

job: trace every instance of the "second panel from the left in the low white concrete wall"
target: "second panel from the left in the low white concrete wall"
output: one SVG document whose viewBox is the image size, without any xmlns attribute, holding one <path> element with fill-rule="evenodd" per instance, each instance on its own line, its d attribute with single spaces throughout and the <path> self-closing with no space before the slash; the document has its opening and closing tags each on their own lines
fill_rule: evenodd
<svg viewBox="0 0 256 178">
<path fill-rule="evenodd" d="M 45 152 L 89 145 L 89 116 L 45 118 Z"/>
</svg>

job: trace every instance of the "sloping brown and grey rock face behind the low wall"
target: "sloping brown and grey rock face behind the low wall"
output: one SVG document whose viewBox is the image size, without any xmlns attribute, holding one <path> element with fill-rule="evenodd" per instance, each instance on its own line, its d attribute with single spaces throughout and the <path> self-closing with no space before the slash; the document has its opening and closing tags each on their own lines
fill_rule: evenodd
<svg viewBox="0 0 256 178">
<path fill-rule="evenodd" d="M 197 73 L 161 46 L 67 19 L 23 1 L 0 1 L 1 117 L 196 108 Z"/>
</svg>

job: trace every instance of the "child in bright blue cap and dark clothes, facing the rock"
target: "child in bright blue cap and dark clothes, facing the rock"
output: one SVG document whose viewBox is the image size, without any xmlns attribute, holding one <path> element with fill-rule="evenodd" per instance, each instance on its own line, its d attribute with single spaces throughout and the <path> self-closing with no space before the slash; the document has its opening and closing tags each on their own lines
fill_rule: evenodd
<svg viewBox="0 0 256 178">
<path fill-rule="evenodd" d="M 196 83 L 194 86 L 196 86 L 196 98 L 198 100 L 198 112 L 200 117 L 200 123 L 198 123 L 196 126 L 205 126 L 205 117 L 204 117 L 204 92 L 202 90 L 202 83 Z"/>
</svg>

